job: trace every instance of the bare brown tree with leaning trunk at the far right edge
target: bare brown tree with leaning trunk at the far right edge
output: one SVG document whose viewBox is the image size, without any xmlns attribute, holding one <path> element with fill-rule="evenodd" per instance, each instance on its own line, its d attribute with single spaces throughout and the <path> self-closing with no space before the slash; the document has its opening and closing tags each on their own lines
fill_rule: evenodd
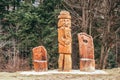
<svg viewBox="0 0 120 80">
<path fill-rule="evenodd" d="M 104 28 L 102 33 L 103 36 L 100 57 L 100 68 L 102 69 L 106 68 L 109 51 L 115 46 L 116 42 L 115 35 L 119 27 L 117 26 L 116 29 L 114 29 L 113 27 L 116 26 L 119 20 L 119 17 L 116 14 L 116 12 L 118 11 L 118 1 L 119 0 L 104 0 L 102 2 L 103 12 L 101 13 L 104 16 Z"/>
</svg>

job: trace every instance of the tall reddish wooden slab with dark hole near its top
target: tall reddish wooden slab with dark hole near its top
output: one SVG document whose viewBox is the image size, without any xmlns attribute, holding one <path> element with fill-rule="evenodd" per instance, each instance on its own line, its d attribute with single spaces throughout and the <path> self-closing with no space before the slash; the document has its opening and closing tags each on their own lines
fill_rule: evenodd
<svg viewBox="0 0 120 80">
<path fill-rule="evenodd" d="M 79 40 L 79 55 L 80 55 L 80 70 L 81 71 L 94 71 L 94 45 L 93 38 L 86 33 L 78 34 Z"/>
</svg>

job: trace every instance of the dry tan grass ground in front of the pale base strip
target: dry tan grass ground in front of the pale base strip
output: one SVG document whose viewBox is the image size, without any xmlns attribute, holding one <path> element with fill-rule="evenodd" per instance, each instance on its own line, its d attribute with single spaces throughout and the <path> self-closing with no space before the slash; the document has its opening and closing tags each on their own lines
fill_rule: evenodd
<svg viewBox="0 0 120 80">
<path fill-rule="evenodd" d="M 0 72 L 0 80 L 120 80 L 120 68 L 104 70 L 108 74 L 79 75 L 79 74 L 48 74 L 21 75 L 20 72 Z"/>
</svg>

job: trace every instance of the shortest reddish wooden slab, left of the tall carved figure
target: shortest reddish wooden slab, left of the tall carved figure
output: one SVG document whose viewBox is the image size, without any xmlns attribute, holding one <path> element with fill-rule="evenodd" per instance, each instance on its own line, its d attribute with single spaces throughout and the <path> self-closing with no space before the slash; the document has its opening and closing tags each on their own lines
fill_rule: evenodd
<svg viewBox="0 0 120 80">
<path fill-rule="evenodd" d="M 35 71 L 47 71 L 47 51 L 44 46 L 38 46 L 32 49 L 33 66 Z"/>
</svg>

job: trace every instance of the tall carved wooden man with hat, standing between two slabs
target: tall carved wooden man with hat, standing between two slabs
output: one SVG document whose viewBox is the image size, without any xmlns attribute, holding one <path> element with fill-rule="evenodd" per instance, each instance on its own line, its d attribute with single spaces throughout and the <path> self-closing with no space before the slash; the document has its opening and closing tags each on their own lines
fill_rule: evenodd
<svg viewBox="0 0 120 80">
<path fill-rule="evenodd" d="M 72 37 L 71 37 L 71 16 L 68 11 L 61 11 L 58 16 L 58 70 L 70 71 L 72 68 Z"/>
</svg>

